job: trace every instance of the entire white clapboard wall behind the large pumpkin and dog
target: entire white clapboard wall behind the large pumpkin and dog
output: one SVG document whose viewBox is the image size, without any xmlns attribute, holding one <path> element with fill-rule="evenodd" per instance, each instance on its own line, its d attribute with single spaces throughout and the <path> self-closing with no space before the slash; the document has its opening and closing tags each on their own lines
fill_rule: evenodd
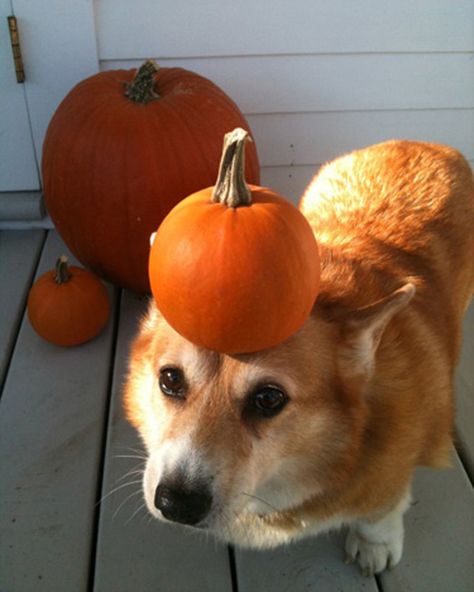
<svg viewBox="0 0 474 592">
<path fill-rule="evenodd" d="M 102 69 L 198 72 L 247 116 L 262 182 L 297 199 L 318 166 L 388 138 L 474 160 L 472 0 L 100 0 Z"/>
</svg>

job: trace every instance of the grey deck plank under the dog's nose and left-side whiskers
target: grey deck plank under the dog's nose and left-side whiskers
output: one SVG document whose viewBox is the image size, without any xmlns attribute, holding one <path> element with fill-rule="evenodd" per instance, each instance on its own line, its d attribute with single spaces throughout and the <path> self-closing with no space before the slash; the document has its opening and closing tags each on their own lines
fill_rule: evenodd
<svg viewBox="0 0 474 592">
<path fill-rule="evenodd" d="M 95 592 L 232 590 L 227 548 L 183 528 L 151 522 L 143 507 L 141 444 L 122 411 L 128 350 L 145 303 L 124 293 L 114 368 L 97 544 Z M 129 483 L 130 485 L 127 485 Z M 117 491 L 113 492 L 115 488 Z"/>
</svg>

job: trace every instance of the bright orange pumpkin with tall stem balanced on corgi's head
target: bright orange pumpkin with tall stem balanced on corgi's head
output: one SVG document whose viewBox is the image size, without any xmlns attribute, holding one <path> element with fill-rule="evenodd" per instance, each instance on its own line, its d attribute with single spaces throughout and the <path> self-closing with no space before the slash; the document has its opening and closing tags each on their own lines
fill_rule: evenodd
<svg viewBox="0 0 474 592">
<path fill-rule="evenodd" d="M 158 309 L 189 341 L 225 353 L 277 345 L 316 299 L 320 263 L 303 214 L 248 186 L 248 134 L 227 134 L 215 187 L 179 203 L 154 237 L 149 275 Z"/>
</svg>

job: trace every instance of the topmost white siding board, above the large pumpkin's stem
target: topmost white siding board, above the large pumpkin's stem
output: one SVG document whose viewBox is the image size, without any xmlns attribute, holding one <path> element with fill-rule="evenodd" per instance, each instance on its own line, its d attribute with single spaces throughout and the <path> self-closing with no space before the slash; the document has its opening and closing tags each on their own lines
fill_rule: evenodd
<svg viewBox="0 0 474 592">
<path fill-rule="evenodd" d="M 98 0 L 95 6 L 103 59 L 474 49 L 472 0 Z"/>
</svg>

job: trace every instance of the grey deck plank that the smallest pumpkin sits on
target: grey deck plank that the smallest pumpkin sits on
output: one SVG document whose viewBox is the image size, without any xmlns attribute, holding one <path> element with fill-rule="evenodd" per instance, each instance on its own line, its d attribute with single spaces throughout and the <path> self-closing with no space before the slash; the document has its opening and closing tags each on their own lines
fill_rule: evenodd
<svg viewBox="0 0 474 592">
<path fill-rule="evenodd" d="M 38 274 L 63 252 L 51 233 Z M 60 348 L 23 319 L 0 405 L 2 591 L 87 589 L 112 325 Z"/>
</svg>

